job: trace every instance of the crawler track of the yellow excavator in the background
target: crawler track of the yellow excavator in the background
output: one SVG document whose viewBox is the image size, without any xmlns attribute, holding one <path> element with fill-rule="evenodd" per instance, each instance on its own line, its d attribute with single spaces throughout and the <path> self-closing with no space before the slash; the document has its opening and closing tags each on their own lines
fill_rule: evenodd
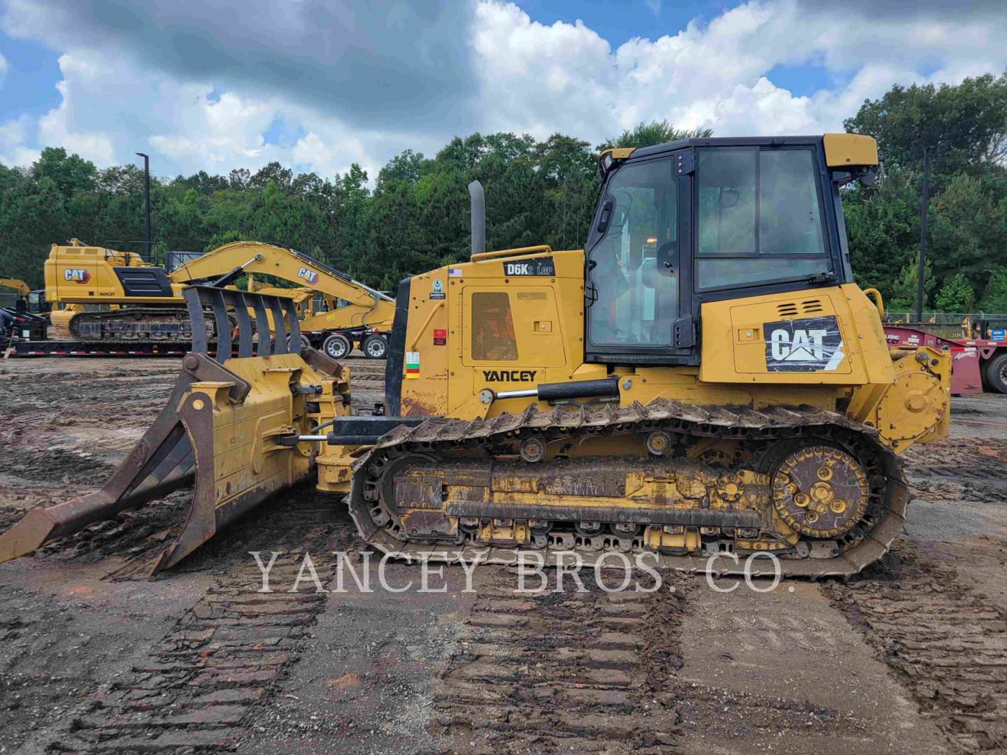
<svg viewBox="0 0 1007 755">
<path fill-rule="evenodd" d="M 206 335 L 217 339 L 212 311 L 205 314 Z M 237 320 L 231 316 L 231 326 Z M 69 321 L 69 334 L 82 341 L 191 341 L 192 325 L 184 307 L 124 307 L 105 312 L 80 312 Z"/>
</svg>

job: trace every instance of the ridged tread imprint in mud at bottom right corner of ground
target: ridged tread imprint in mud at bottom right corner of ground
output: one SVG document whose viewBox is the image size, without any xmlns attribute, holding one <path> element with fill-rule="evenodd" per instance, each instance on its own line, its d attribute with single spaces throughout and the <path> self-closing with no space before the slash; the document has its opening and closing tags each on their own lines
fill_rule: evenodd
<svg viewBox="0 0 1007 755">
<path fill-rule="evenodd" d="M 956 570 L 896 547 L 827 595 L 959 752 L 1007 749 L 1007 616 Z"/>
</svg>

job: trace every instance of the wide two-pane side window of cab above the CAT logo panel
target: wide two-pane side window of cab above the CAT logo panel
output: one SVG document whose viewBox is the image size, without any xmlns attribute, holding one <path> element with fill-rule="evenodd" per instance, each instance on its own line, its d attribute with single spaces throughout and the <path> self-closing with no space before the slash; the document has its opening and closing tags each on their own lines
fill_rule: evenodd
<svg viewBox="0 0 1007 755">
<path fill-rule="evenodd" d="M 830 273 L 810 149 L 696 151 L 700 291 Z"/>
</svg>

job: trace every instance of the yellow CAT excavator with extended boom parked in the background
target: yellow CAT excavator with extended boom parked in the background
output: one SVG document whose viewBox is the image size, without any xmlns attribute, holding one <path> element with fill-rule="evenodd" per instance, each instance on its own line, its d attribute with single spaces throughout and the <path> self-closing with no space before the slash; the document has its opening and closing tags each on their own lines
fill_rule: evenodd
<svg viewBox="0 0 1007 755">
<path fill-rule="evenodd" d="M 354 345 L 370 357 L 385 357 L 395 312 L 391 297 L 308 255 L 270 244 L 235 242 L 181 258 L 165 270 L 134 252 L 74 239 L 65 246 L 52 245 L 45 262 L 45 295 L 63 307 L 53 313 L 53 325 L 75 340 L 188 340 L 181 289 L 204 279 L 225 286 L 245 275 L 293 283 L 300 289 L 290 293 L 301 299 L 306 292 L 319 295 L 318 311 L 304 307 L 301 334 L 306 345 L 320 347 L 332 358 L 342 358 Z M 96 304 L 105 306 L 88 306 Z M 207 313 L 204 327 L 210 338 L 217 337 L 217 326 Z"/>
</svg>

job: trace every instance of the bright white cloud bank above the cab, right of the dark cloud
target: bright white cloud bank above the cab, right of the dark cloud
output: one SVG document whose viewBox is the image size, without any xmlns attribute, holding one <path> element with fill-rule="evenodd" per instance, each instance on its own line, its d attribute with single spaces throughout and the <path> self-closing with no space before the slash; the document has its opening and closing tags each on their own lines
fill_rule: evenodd
<svg viewBox="0 0 1007 755">
<path fill-rule="evenodd" d="M 960 82 L 1007 65 L 1007 15 L 925 9 L 872 17 L 843 6 L 753 0 L 674 35 L 611 50 L 580 21 L 550 26 L 513 3 L 478 5 L 473 33 L 483 128 L 560 131 L 597 143 L 640 121 L 667 119 L 719 136 L 842 130 L 866 98 L 893 84 Z M 940 61 L 928 80 L 919 70 Z M 777 65 L 812 64 L 842 86 L 796 96 Z"/>
</svg>

